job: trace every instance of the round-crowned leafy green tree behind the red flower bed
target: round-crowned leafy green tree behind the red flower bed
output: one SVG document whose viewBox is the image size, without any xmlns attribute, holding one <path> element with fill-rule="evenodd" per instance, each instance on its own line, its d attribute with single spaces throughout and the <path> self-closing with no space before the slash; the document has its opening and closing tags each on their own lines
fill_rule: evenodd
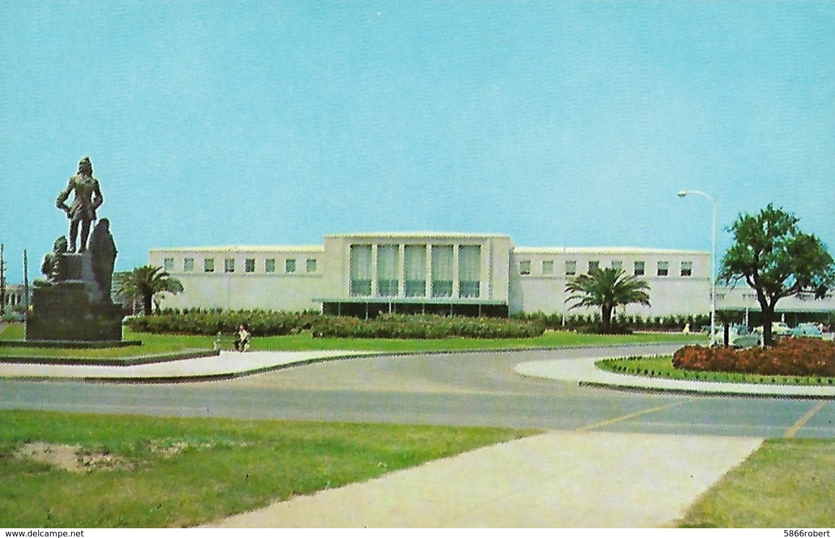
<svg viewBox="0 0 835 538">
<path fill-rule="evenodd" d="M 819 299 L 835 286 L 832 256 L 816 236 L 800 231 L 797 221 L 769 204 L 757 215 L 741 214 L 729 228 L 734 244 L 722 258 L 719 279 L 744 280 L 757 293 L 766 345 L 773 343 L 777 301 L 798 293 Z"/>
</svg>

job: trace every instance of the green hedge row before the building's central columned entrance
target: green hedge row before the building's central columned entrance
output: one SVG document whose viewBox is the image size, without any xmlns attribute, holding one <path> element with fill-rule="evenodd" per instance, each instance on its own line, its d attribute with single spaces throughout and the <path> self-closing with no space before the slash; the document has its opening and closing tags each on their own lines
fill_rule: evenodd
<svg viewBox="0 0 835 538">
<path fill-rule="evenodd" d="M 368 320 L 324 316 L 312 332 L 314 338 L 535 338 L 545 326 L 534 320 L 383 314 Z"/>
</svg>

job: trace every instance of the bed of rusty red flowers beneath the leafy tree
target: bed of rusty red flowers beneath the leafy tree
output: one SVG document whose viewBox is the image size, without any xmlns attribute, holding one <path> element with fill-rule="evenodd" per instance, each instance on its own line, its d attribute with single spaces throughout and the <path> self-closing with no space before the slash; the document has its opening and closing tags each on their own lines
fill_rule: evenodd
<svg viewBox="0 0 835 538">
<path fill-rule="evenodd" d="M 772 348 L 685 346 L 673 355 L 673 366 L 703 372 L 830 377 L 835 376 L 835 343 L 786 338 Z"/>
</svg>

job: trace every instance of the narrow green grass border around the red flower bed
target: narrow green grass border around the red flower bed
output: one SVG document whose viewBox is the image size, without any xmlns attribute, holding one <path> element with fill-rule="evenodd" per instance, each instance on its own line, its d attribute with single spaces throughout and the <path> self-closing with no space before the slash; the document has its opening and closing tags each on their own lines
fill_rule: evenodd
<svg viewBox="0 0 835 538">
<path fill-rule="evenodd" d="M 696 372 L 673 366 L 672 357 L 630 357 L 598 361 L 601 370 L 654 378 L 686 379 L 688 381 L 711 381 L 717 383 L 762 383 L 780 385 L 826 385 L 835 386 L 835 378 L 803 377 L 785 375 L 759 375 L 754 373 Z"/>
</svg>

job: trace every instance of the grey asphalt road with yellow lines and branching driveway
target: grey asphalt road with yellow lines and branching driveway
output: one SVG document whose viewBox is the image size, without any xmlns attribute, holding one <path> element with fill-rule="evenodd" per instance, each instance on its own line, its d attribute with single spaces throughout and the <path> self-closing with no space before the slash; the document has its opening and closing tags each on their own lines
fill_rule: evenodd
<svg viewBox="0 0 835 538">
<path fill-rule="evenodd" d="M 676 346 L 353 358 L 159 385 L 0 381 L 0 409 L 514 428 L 835 437 L 835 402 L 629 393 L 523 378 L 518 363 Z"/>
</svg>

